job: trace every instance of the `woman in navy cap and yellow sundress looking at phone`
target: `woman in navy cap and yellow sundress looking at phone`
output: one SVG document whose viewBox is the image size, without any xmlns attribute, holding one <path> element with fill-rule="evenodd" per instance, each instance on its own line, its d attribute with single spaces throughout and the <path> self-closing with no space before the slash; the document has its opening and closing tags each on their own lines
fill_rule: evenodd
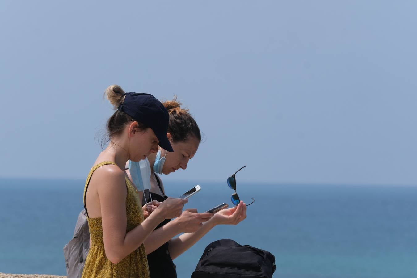
<svg viewBox="0 0 417 278">
<path fill-rule="evenodd" d="M 109 144 L 85 182 L 91 246 L 82 277 L 148 278 L 143 242 L 163 220 L 181 215 L 188 200 L 168 198 L 143 220 L 138 190 L 126 175 L 125 164 L 156 153 L 158 145 L 173 151 L 166 136 L 169 115 L 150 94 L 125 93 L 111 85 L 105 95 L 117 110 L 107 122 Z"/>
</svg>

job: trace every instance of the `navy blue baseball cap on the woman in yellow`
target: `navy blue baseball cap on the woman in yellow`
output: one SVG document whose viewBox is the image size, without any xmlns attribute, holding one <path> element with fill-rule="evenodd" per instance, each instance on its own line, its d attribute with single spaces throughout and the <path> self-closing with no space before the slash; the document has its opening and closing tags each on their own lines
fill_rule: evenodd
<svg viewBox="0 0 417 278">
<path fill-rule="evenodd" d="M 158 145 L 161 148 L 171 153 L 174 151 L 166 137 L 169 124 L 168 111 L 153 95 L 135 92 L 126 93 L 125 100 L 119 105 L 118 110 L 151 128 L 158 138 Z"/>
</svg>

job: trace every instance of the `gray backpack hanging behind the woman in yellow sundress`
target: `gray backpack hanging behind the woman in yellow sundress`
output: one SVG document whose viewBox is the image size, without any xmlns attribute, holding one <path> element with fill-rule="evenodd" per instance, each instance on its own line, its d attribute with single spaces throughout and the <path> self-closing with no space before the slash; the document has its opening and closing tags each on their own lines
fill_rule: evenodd
<svg viewBox="0 0 417 278">
<path fill-rule="evenodd" d="M 88 230 L 87 214 L 82 210 L 75 224 L 74 237 L 64 246 L 67 278 L 81 278 L 85 258 L 90 248 L 90 231 Z"/>
</svg>

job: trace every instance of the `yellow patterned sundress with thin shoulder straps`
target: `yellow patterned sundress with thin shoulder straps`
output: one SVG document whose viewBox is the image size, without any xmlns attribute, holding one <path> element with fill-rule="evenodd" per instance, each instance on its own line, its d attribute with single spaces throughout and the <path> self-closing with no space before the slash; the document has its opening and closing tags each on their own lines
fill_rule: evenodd
<svg viewBox="0 0 417 278">
<path fill-rule="evenodd" d="M 87 191 L 86 189 L 88 183 L 90 182 L 91 175 L 93 175 L 93 172 L 97 168 L 108 164 L 116 165 L 114 162 L 104 161 L 91 168 L 90 173 L 88 174 L 88 178 L 85 181 L 83 200 L 85 200 L 85 193 Z M 126 188 L 128 193 L 126 197 L 127 233 L 143 221 L 143 211 L 142 207 L 139 205 L 141 202 L 139 200 L 137 191 L 127 177 Z M 106 253 L 104 253 L 103 227 L 101 225 L 101 217 L 87 218 L 87 220 L 88 229 L 90 230 L 91 247 L 88 251 L 87 259 L 85 260 L 85 266 L 82 275 L 83 278 L 150 278 L 148 260 L 146 258 L 145 246 L 143 244 L 119 263 L 114 264 L 106 258 Z"/>
</svg>

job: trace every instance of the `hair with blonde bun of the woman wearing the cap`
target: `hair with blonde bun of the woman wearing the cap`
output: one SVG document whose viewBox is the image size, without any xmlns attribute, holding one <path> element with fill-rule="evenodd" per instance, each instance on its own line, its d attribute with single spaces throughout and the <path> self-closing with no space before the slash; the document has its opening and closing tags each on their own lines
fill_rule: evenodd
<svg viewBox="0 0 417 278">
<path fill-rule="evenodd" d="M 114 109 L 118 109 L 119 105 L 125 100 L 125 91 L 119 85 L 110 85 L 104 91 L 104 96 L 110 101 Z M 110 141 L 114 136 L 120 135 L 122 130 L 133 121 L 138 122 L 133 119 L 130 115 L 124 113 L 123 111 L 116 110 L 113 115 L 107 120 L 107 134 L 103 136 L 101 141 L 101 146 L 103 147 Z M 139 129 L 144 130 L 148 128 L 143 123 L 139 123 Z"/>
</svg>

